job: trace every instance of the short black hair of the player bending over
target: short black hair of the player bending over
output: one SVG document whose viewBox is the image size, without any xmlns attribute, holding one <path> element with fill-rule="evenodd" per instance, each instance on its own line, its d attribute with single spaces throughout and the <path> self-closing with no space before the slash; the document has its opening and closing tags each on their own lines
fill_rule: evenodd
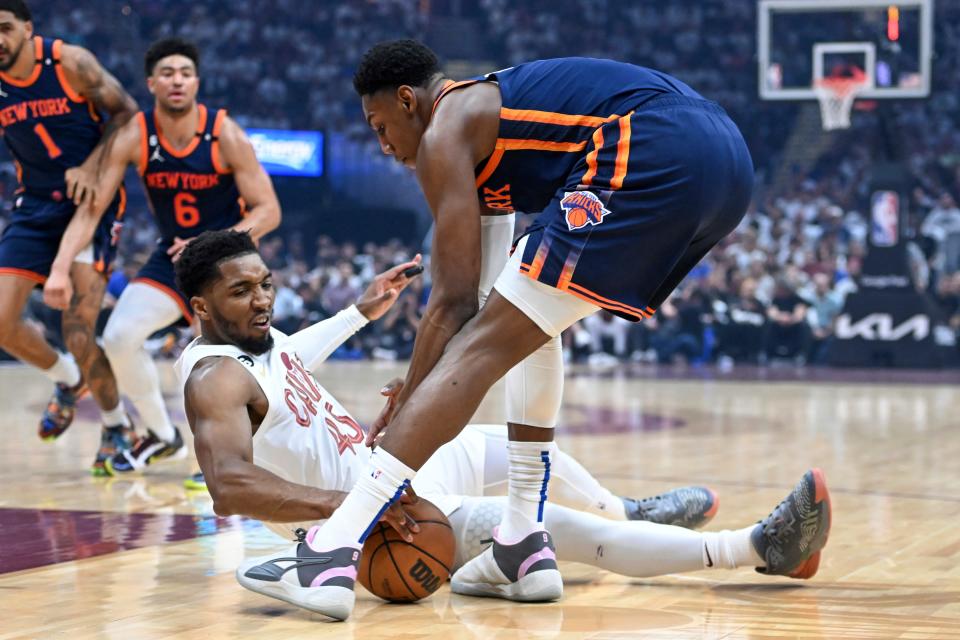
<svg viewBox="0 0 960 640">
<path fill-rule="evenodd" d="M 439 72 L 437 56 L 426 45 L 416 40 L 381 42 L 363 55 L 353 88 L 366 96 L 401 85 L 422 87 Z"/>
</svg>

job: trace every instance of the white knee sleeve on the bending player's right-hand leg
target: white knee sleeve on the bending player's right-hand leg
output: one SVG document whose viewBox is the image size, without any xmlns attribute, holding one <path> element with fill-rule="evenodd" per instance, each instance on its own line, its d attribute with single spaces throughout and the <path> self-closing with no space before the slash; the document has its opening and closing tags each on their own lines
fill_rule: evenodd
<svg viewBox="0 0 960 640">
<path fill-rule="evenodd" d="M 507 372 L 507 421 L 531 427 L 557 426 L 563 398 L 563 347 L 551 338 Z"/>
</svg>

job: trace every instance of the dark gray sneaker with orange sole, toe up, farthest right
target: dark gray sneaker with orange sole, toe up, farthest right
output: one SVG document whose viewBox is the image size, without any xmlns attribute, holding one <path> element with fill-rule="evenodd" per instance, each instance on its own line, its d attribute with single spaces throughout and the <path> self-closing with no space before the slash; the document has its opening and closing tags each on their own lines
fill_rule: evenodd
<svg viewBox="0 0 960 640">
<path fill-rule="evenodd" d="M 806 580 L 820 567 L 830 535 L 830 492 L 820 469 L 807 471 L 786 499 L 760 521 L 750 541 L 766 563 L 760 573 Z"/>
</svg>

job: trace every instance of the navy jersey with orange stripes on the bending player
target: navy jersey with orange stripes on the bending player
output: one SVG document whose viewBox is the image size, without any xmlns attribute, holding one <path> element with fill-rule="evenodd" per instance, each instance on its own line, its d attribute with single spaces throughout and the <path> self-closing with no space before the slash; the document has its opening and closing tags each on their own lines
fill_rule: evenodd
<svg viewBox="0 0 960 640">
<path fill-rule="evenodd" d="M 557 58 L 450 84 L 437 102 L 475 82 L 496 82 L 502 99 L 496 148 L 476 168 L 480 202 L 526 213 L 549 204 L 604 124 L 664 94 L 700 98 L 683 82 L 653 69 Z"/>
</svg>

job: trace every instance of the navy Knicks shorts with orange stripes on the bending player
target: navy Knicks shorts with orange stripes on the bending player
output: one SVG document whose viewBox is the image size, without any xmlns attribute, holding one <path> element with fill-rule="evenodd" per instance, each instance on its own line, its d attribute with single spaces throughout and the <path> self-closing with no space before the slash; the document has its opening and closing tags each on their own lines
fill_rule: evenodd
<svg viewBox="0 0 960 640">
<path fill-rule="evenodd" d="M 598 129 L 528 231 L 520 269 L 627 318 L 649 317 L 740 222 L 753 161 L 723 109 L 665 95 Z"/>
</svg>

